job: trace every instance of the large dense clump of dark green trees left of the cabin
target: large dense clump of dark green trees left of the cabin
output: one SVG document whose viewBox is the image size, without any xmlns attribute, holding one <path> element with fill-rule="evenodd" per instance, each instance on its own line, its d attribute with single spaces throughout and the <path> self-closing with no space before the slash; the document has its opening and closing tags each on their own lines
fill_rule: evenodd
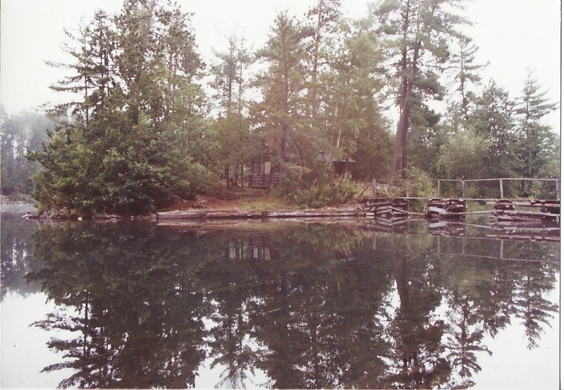
<svg viewBox="0 0 564 390">
<path fill-rule="evenodd" d="M 32 155 L 46 169 L 36 178 L 44 207 L 135 214 L 202 188 L 190 155 L 202 150 L 202 63 L 189 23 L 170 1 L 128 0 L 68 42 L 74 74 L 55 89 L 77 94 L 58 107 L 71 121 Z"/>
</svg>

